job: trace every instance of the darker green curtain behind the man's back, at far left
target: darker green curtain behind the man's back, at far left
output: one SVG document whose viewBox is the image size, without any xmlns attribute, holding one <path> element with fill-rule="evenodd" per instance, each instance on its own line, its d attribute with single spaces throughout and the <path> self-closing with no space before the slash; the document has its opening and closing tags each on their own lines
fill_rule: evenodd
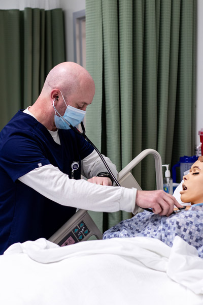
<svg viewBox="0 0 203 305">
<path fill-rule="evenodd" d="M 0 130 L 38 98 L 48 72 L 65 61 L 61 9 L 0 10 Z"/>
</svg>

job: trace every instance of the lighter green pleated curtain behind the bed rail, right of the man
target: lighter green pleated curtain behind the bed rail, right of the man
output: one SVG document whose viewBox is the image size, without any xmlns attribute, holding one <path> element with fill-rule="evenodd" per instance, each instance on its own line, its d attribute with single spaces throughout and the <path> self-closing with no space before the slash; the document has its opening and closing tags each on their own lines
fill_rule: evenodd
<svg viewBox="0 0 203 305">
<path fill-rule="evenodd" d="M 195 146 L 196 0 L 86 0 L 86 130 L 118 171 L 146 148 L 170 167 Z M 133 170 L 155 189 L 153 157 Z M 93 215 L 93 214 L 92 214 Z M 130 217 L 94 214 L 106 230 Z"/>
</svg>

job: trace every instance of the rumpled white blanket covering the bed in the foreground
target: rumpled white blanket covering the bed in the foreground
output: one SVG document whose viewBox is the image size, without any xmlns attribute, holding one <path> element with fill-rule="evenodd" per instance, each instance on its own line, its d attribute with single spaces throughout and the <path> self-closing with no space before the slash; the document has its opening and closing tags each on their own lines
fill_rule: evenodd
<svg viewBox="0 0 203 305">
<path fill-rule="evenodd" d="M 0 256 L 0 304 L 202 305 L 203 260 L 180 237 L 172 248 L 147 237 L 59 248 L 40 238 Z"/>
</svg>

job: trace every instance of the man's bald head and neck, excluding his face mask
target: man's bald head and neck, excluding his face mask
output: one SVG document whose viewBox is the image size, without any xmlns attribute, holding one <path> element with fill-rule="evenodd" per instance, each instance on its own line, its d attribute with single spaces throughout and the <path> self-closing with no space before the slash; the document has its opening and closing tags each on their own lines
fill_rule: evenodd
<svg viewBox="0 0 203 305">
<path fill-rule="evenodd" d="M 61 115 L 68 105 L 86 110 L 95 93 L 94 81 L 83 67 L 64 62 L 55 66 L 47 75 L 42 92 L 29 111 L 49 130 L 56 130 L 55 109 Z"/>
</svg>

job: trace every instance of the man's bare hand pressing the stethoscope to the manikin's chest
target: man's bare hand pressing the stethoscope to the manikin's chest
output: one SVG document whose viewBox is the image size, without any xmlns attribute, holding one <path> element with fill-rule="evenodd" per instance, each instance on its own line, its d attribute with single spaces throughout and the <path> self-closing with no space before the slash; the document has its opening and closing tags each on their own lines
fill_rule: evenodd
<svg viewBox="0 0 203 305">
<path fill-rule="evenodd" d="M 170 216 L 174 205 L 182 207 L 180 203 L 170 194 L 162 190 L 137 191 L 136 204 L 142 208 L 152 208 L 154 214 Z"/>
</svg>

